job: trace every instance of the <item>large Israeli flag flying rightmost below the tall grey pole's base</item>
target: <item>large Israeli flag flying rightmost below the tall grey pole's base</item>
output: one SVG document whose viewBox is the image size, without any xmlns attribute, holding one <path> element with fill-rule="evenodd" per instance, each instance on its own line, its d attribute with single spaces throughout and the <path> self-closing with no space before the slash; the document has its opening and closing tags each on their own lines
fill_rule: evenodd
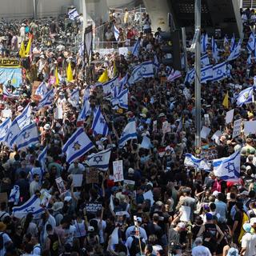
<svg viewBox="0 0 256 256">
<path fill-rule="evenodd" d="M 240 151 L 227 158 L 213 160 L 214 175 L 224 181 L 237 181 L 240 177 Z"/>
</svg>

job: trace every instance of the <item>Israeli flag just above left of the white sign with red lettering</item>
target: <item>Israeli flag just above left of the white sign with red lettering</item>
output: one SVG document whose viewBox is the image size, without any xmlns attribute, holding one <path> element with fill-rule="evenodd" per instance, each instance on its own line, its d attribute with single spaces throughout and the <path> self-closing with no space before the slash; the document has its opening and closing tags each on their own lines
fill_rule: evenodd
<svg viewBox="0 0 256 256">
<path fill-rule="evenodd" d="M 90 154 L 87 157 L 86 164 L 95 167 L 98 170 L 108 170 L 110 162 L 111 149 L 102 150 L 96 154 Z"/>
</svg>

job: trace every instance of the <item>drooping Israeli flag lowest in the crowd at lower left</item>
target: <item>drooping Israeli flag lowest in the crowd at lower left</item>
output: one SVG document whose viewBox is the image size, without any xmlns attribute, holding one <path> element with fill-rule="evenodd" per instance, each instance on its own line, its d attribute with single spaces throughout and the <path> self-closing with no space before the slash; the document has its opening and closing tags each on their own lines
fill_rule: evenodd
<svg viewBox="0 0 256 256">
<path fill-rule="evenodd" d="M 26 217 L 28 213 L 33 214 L 34 218 L 38 218 L 44 211 L 41 206 L 41 199 L 35 194 L 22 204 L 22 206 L 13 207 L 13 215 L 15 218 Z"/>
</svg>

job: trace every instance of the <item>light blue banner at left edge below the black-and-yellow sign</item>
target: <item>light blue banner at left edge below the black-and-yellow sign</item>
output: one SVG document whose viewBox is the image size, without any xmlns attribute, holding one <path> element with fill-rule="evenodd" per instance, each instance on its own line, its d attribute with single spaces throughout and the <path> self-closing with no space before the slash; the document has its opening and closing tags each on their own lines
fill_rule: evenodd
<svg viewBox="0 0 256 256">
<path fill-rule="evenodd" d="M 0 83 L 6 86 L 9 80 L 12 86 L 19 87 L 22 84 L 22 69 L 0 67 Z"/>
</svg>

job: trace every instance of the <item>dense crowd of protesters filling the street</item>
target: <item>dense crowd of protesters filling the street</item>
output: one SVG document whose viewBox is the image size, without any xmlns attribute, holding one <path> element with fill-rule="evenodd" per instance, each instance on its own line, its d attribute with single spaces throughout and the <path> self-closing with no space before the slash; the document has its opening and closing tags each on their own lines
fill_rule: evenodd
<svg viewBox="0 0 256 256">
<path fill-rule="evenodd" d="M 202 138 L 202 147 L 195 149 L 194 84 L 184 83 L 183 70 L 170 79 L 172 68 L 162 64 L 161 34 L 152 34 L 149 21 L 145 14 L 142 31 L 134 35 L 140 46 L 137 54 L 93 52 L 90 78 L 84 76 L 84 58 L 78 50 L 47 45 L 58 34 L 56 20 L 42 26 L 43 31 L 37 29 L 38 22 L 30 20 L 18 28 L 22 42 L 32 42 L 31 50 L 21 60 L 22 85 L 6 84 L 10 94 L 18 91 L 18 98 L 6 96 L 2 87 L 0 103 L 2 113 L 11 110 L 13 121 L 30 104 L 30 123 L 36 124 L 39 141 L 18 150 L 17 145 L 10 146 L 1 138 L 0 192 L 7 194 L 7 200 L 2 197 L 0 203 L 0 256 L 255 255 L 255 134 L 246 136 L 242 130 L 232 138 L 233 124 L 225 121 L 226 112 L 232 109 L 234 120 L 242 118 L 242 122 L 253 121 L 256 114 L 254 102 L 242 106 L 235 102 L 241 90 L 254 84 L 256 63 L 252 59 L 250 66 L 247 64 L 246 39 L 240 56 L 229 62 L 230 75 L 220 82 L 202 84 L 202 122 L 210 134 Z M 245 26 L 244 32 L 249 38 L 250 27 Z M 18 34 L 8 33 L 9 39 L 0 44 L 6 58 L 16 56 L 21 48 Z M 230 42 L 218 42 L 218 48 L 222 62 L 230 54 Z M 214 63 L 210 43 L 207 54 Z M 102 89 L 104 82 L 118 76 L 120 88 L 135 66 L 155 63 L 155 59 L 158 65 L 153 76 L 122 85 L 129 90 L 128 108 L 111 105 Z M 194 65 L 192 53 L 188 53 L 188 64 Z M 69 66 L 71 80 L 66 78 Z M 106 78 L 103 82 L 102 75 Z M 54 88 L 48 106 L 38 107 L 34 81 L 43 82 L 47 93 Z M 75 90 L 78 98 L 74 100 Z M 222 106 L 226 94 L 227 108 Z M 90 102 L 91 111 L 81 123 L 78 116 L 86 102 Z M 93 125 L 98 107 L 101 122 L 108 126 L 102 134 L 95 132 Z M 62 115 L 56 110 L 62 110 Z M 4 123 L 3 114 L 1 118 Z M 136 123 L 137 139 L 120 146 L 122 131 L 130 122 Z M 168 129 L 163 126 L 166 122 Z M 68 162 L 63 146 L 79 127 L 94 149 Z M 221 131 L 219 140 L 211 140 L 217 130 Z M 150 146 L 145 146 L 146 141 Z M 77 146 L 82 145 L 74 145 L 74 150 Z M 44 149 L 46 158 L 39 161 Z M 88 165 L 88 156 L 102 150 L 110 150 L 106 170 Z M 184 164 L 186 153 L 207 155 L 212 160 L 229 157 L 237 150 L 241 151 L 238 181 L 222 180 L 212 168 L 206 171 Z M 114 182 L 113 162 L 117 160 L 122 160 L 123 178 Z M 74 181 L 74 177 L 81 177 L 78 174 L 82 174 L 79 186 Z M 33 209 L 26 209 L 22 216 L 15 214 L 16 207 L 46 195 L 50 196 L 40 204 L 40 214 Z"/>
</svg>

